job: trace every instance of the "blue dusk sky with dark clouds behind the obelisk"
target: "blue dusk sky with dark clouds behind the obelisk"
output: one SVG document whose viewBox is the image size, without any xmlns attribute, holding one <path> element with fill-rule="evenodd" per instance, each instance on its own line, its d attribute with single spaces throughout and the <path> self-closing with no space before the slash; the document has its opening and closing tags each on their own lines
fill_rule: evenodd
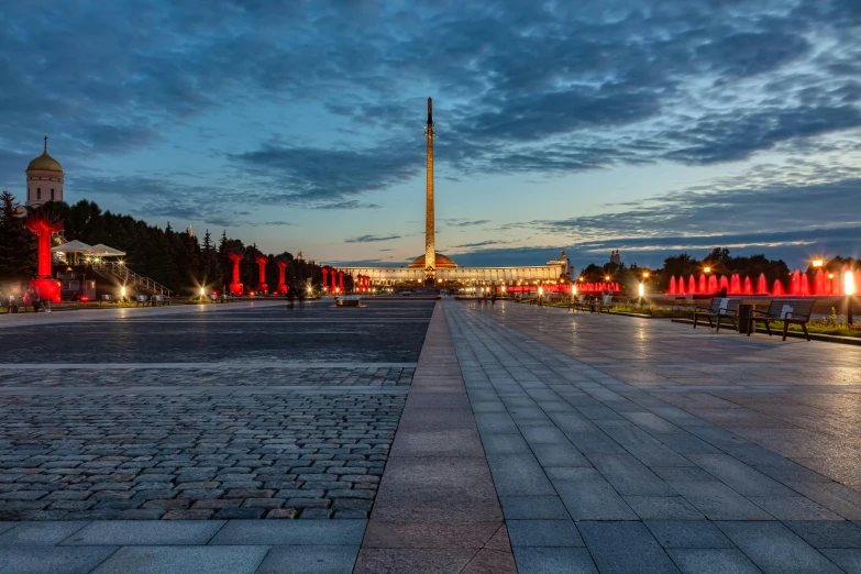
<svg viewBox="0 0 861 574">
<path fill-rule="evenodd" d="M 0 187 L 401 265 L 861 251 L 861 1 L 4 0 Z"/>
</svg>

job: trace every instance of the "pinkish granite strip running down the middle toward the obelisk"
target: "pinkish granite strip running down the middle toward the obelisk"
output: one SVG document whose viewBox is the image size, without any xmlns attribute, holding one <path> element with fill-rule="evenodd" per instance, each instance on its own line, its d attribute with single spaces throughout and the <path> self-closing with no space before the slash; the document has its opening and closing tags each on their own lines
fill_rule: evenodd
<svg viewBox="0 0 861 574">
<path fill-rule="evenodd" d="M 355 572 L 515 572 L 441 303 L 428 328 Z"/>
</svg>

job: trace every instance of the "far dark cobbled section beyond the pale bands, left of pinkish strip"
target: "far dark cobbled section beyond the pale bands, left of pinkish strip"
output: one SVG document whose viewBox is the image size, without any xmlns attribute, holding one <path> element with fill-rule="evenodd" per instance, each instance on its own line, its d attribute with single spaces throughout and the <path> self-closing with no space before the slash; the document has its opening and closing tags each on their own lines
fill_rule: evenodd
<svg viewBox="0 0 861 574">
<path fill-rule="evenodd" d="M 26 322 L 12 318 L 19 324 L 15 336 L 3 340 L 2 362 L 415 363 L 433 308 L 431 301 L 382 300 L 345 309 L 335 308 L 330 299 L 308 302 L 303 311 L 289 311 L 285 303 L 273 301 L 247 311 L 240 309 L 241 305 L 212 305 L 197 313 L 163 311 L 151 317 L 141 312 L 146 309 L 129 309 L 122 320 L 101 319 L 100 313 L 109 310 L 53 313 L 77 313 L 76 319 L 85 323 L 52 322 L 67 318 L 44 314 L 32 316 Z M 88 327 L 81 329 L 81 324 Z"/>
</svg>

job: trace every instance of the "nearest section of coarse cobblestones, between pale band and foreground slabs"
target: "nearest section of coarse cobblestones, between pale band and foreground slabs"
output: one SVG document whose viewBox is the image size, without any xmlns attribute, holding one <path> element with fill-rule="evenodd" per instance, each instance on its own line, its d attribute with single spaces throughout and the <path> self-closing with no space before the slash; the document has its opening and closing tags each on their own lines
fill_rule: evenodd
<svg viewBox="0 0 861 574">
<path fill-rule="evenodd" d="M 365 518 L 406 395 L 1 398 L 0 519 Z"/>
</svg>

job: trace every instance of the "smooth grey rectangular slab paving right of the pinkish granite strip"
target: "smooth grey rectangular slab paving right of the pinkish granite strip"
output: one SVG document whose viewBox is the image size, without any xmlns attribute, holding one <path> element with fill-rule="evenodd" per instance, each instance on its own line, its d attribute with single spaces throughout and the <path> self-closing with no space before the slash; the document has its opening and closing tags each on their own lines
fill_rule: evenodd
<svg viewBox="0 0 861 574">
<path fill-rule="evenodd" d="M 861 571 L 861 350 L 445 310 L 521 574 Z"/>
</svg>

